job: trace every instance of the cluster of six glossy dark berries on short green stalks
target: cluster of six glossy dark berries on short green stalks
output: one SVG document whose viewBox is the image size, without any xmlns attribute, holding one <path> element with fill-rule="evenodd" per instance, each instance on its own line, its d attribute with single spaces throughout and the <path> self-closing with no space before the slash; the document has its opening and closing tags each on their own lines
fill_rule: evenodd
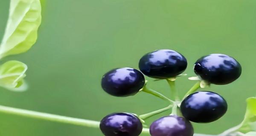
<svg viewBox="0 0 256 136">
<path fill-rule="evenodd" d="M 150 89 L 145 87 L 144 75 L 174 81 L 186 67 L 187 60 L 182 54 L 167 49 L 157 50 L 140 59 L 141 72 L 134 68 L 116 68 L 107 72 L 102 78 L 102 88 L 108 94 L 119 97 L 132 96 L 140 91 L 148 93 Z M 225 54 L 209 54 L 195 62 L 194 71 L 208 85 L 226 85 L 239 78 L 241 65 Z M 190 91 L 182 101 L 169 99 L 155 91 L 150 94 L 169 100 L 173 107 L 171 115 L 151 124 L 151 136 L 193 136 L 190 121 L 213 122 L 227 111 L 225 99 L 211 91 Z M 178 115 L 177 111 L 181 114 Z M 143 119 L 146 118 L 133 113 L 112 113 L 102 119 L 100 129 L 105 136 L 139 136 L 143 129 Z"/>
</svg>

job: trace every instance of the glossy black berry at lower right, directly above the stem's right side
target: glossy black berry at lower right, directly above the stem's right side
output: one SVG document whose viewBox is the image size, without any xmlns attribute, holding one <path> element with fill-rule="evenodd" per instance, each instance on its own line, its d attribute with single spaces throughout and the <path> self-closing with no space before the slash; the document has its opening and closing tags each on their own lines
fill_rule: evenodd
<svg viewBox="0 0 256 136">
<path fill-rule="evenodd" d="M 183 116 L 197 123 L 213 122 L 227 111 L 227 102 L 220 95 L 210 91 L 195 92 L 187 96 L 180 105 Z"/>
</svg>

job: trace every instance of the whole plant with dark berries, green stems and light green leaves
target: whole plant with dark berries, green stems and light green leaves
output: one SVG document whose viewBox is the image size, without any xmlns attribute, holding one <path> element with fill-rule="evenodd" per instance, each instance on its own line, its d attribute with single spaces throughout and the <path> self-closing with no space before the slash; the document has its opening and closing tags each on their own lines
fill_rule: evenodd
<svg viewBox="0 0 256 136">
<path fill-rule="evenodd" d="M 41 3 L 39 0 L 11 0 L 9 20 L 0 45 L 0 58 L 27 51 L 37 39 L 41 23 Z M 111 113 L 103 119 L 92 121 L 59 116 L 49 113 L 28 111 L 0 105 L 0 112 L 44 119 L 85 127 L 98 128 L 105 136 L 139 136 L 140 133 L 151 136 L 256 136 L 256 97 L 247 99 L 244 120 L 218 135 L 194 133 L 191 122 L 213 122 L 227 111 L 225 99 L 211 91 L 197 91 L 210 84 L 226 85 L 241 75 L 241 65 L 236 59 L 225 54 L 209 54 L 195 62 L 194 71 L 198 80 L 182 99 L 177 96 L 175 82 L 187 67 L 186 58 L 173 50 L 157 50 L 145 54 L 139 62 L 139 70 L 134 68 L 116 68 L 102 78 L 102 88 L 112 96 L 133 96 L 140 92 L 152 94 L 169 103 L 150 113 Z M 27 66 L 19 61 L 9 61 L 0 65 L 0 86 L 13 91 L 25 91 L 23 78 Z M 166 80 L 171 88 L 168 98 L 148 88 L 144 75 L 156 80 Z M 145 125 L 145 120 L 172 108 L 172 113 Z M 143 128 L 144 126 L 144 128 Z"/>
</svg>

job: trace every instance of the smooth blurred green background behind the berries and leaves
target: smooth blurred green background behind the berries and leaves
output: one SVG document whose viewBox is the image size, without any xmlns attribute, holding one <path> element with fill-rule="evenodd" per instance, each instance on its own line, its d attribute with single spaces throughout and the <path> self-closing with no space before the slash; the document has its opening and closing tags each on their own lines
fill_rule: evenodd
<svg viewBox="0 0 256 136">
<path fill-rule="evenodd" d="M 8 9 L 9 0 L 0 0 L 0 37 Z M 100 86 L 105 72 L 138 68 L 140 57 L 156 49 L 183 54 L 188 77 L 195 75 L 193 63 L 203 55 L 235 57 L 243 67 L 240 79 L 205 89 L 224 96 L 228 112 L 216 122 L 193 125 L 196 133 L 217 134 L 241 122 L 245 99 L 256 95 L 255 0 L 46 0 L 36 44 L 25 54 L 1 61 L 15 59 L 29 66 L 29 90 L 1 88 L 0 104 L 93 120 L 112 112 L 142 114 L 163 108 L 165 102 L 148 94 L 117 98 Z M 151 88 L 169 95 L 165 81 L 147 79 Z M 194 83 L 179 78 L 180 96 Z M 94 128 L 0 113 L 0 136 L 103 135 Z"/>
</svg>

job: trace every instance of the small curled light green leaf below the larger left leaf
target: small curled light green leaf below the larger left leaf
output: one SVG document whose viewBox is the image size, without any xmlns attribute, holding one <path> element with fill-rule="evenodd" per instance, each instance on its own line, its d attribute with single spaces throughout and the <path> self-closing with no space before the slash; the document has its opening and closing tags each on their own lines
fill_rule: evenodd
<svg viewBox="0 0 256 136">
<path fill-rule="evenodd" d="M 23 81 L 26 70 L 26 64 L 15 60 L 0 65 L 0 86 L 12 91 L 26 90 L 27 86 Z"/>
</svg>

